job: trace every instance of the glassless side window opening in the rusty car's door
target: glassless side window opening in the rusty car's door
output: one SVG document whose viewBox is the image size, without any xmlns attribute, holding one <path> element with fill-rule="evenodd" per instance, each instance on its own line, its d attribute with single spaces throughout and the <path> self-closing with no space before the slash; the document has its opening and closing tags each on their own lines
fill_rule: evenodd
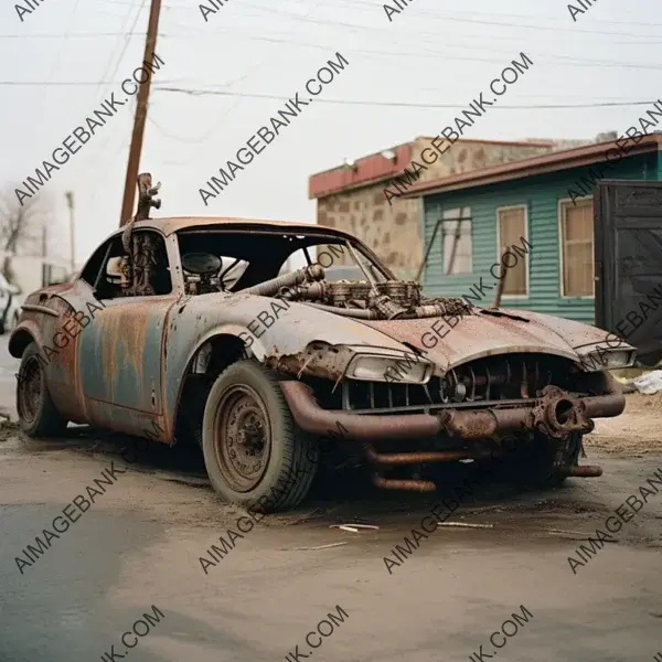
<svg viewBox="0 0 662 662">
<path fill-rule="evenodd" d="M 121 235 L 110 242 L 100 277 L 96 284 L 99 299 L 162 296 L 172 291 L 170 265 L 163 237 L 152 231 L 131 235 L 135 259 L 124 250 Z"/>
</svg>

